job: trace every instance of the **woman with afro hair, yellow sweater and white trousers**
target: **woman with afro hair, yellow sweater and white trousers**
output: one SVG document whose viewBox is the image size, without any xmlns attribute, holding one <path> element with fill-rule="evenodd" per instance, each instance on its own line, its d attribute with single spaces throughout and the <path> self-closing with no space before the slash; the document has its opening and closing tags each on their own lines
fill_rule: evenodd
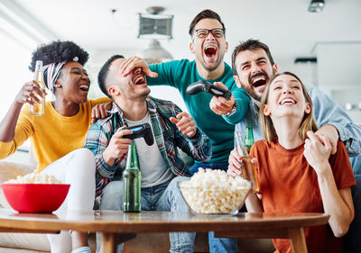
<svg viewBox="0 0 361 253">
<path fill-rule="evenodd" d="M 92 109 L 97 117 L 105 117 L 109 98 L 88 100 L 90 80 L 83 65 L 88 52 L 71 41 L 53 41 L 41 45 L 32 53 L 30 70 L 36 60 L 42 60 L 44 82 L 55 95 L 45 103 L 43 116 L 33 116 L 30 104 L 44 96 L 41 87 L 30 81 L 23 85 L 0 123 L 0 158 L 6 158 L 30 138 L 37 160 L 35 172 L 56 176 L 70 184 L 69 194 L 59 210 L 92 210 L 95 196 L 95 159 L 84 146 L 92 121 Z M 97 105 L 95 107 L 95 105 Z M 71 238 L 70 238 L 71 234 Z M 51 252 L 90 252 L 88 234 L 61 231 L 48 235 Z"/>
</svg>

